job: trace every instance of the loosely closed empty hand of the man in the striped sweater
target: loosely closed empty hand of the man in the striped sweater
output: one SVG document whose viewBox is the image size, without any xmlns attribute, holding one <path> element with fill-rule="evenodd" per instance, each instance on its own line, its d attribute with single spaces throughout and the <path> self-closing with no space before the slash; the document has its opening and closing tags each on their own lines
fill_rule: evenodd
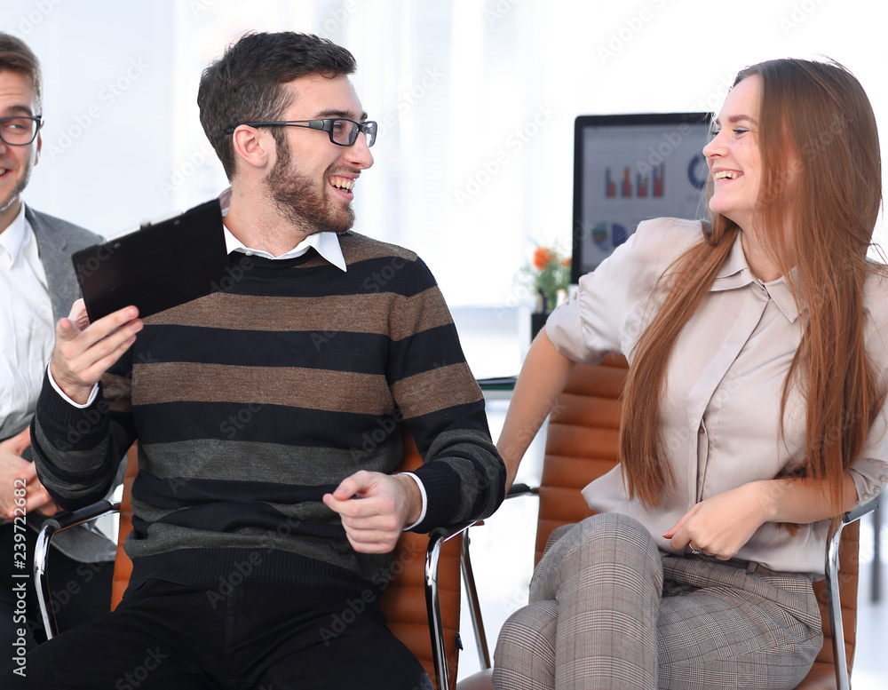
<svg viewBox="0 0 888 690">
<path fill-rule="evenodd" d="M 404 527 L 419 519 L 423 498 L 416 481 L 404 475 L 354 473 L 324 504 L 342 516 L 345 535 L 355 551 L 388 553 Z"/>
</svg>

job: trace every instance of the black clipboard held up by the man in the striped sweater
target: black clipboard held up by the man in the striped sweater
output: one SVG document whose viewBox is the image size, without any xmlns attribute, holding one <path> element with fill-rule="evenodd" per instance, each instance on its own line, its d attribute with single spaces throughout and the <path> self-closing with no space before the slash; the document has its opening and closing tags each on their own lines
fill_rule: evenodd
<svg viewBox="0 0 888 690">
<path fill-rule="evenodd" d="M 218 290 L 228 266 L 218 199 L 72 255 L 90 321 L 139 307 L 139 318 Z"/>
</svg>

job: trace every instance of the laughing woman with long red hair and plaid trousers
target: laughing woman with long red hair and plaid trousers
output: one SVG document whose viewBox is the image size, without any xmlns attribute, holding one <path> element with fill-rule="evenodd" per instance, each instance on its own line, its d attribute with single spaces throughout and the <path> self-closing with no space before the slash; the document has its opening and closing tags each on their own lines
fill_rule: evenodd
<svg viewBox="0 0 888 690">
<path fill-rule="evenodd" d="M 836 121 L 854 126 L 805 155 Z M 703 153 L 710 222 L 638 226 L 521 370 L 497 444 L 510 479 L 575 362 L 630 360 L 621 464 L 583 489 L 597 514 L 550 539 L 497 688 L 796 687 L 822 642 L 829 520 L 888 483 L 888 273 L 867 261 L 881 164 L 860 83 L 833 62 L 748 67 Z"/>
</svg>

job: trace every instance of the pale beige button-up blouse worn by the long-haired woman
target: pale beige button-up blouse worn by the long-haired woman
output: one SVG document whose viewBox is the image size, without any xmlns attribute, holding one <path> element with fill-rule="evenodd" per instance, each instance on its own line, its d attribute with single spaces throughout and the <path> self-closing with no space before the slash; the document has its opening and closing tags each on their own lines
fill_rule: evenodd
<svg viewBox="0 0 888 690">
<path fill-rule="evenodd" d="M 654 286 L 685 250 L 702 241 L 700 224 L 658 218 L 638 226 L 629 241 L 551 314 L 546 332 L 559 353 L 596 364 L 609 352 L 632 360 L 649 321 Z M 888 280 L 871 275 L 865 287 L 866 347 L 888 385 Z M 710 496 L 753 480 L 772 479 L 804 461 L 805 414 L 790 395 L 783 435 L 783 384 L 797 350 L 801 324 L 789 286 L 781 278 L 763 283 L 752 274 L 740 236 L 700 309 L 678 337 L 667 369 L 662 425 L 677 486 L 648 512 L 630 501 L 620 468 L 591 482 L 583 496 L 594 511 L 621 512 L 644 524 L 657 546 L 690 508 Z M 885 410 L 869 432 L 852 476 L 860 503 L 888 483 Z M 737 554 L 785 572 L 822 575 L 829 520 L 801 526 L 796 535 L 765 523 Z"/>
</svg>

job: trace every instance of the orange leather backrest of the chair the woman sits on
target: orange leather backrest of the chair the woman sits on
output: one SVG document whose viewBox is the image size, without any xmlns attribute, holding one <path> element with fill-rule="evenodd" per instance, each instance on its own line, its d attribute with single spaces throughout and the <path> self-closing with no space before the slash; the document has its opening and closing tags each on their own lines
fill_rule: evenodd
<svg viewBox="0 0 888 690">
<path fill-rule="evenodd" d="M 536 557 L 561 525 L 578 522 L 592 512 L 580 490 L 619 462 L 620 401 L 628 373 L 626 360 L 610 355 L 597 367 L 578 364 L 553 410 L 546 437 Z M 842 613 L 848 671 L 854 658 L 857 627 L 859 523 L 844 528 L 839 550 Z M 824 544 L 824 549 L 826 545 Z M 821 604 L 824 641 L 813 669 L 799 690 L 836 687 L 824 583 L 814 583 Z"/>
</svg>

